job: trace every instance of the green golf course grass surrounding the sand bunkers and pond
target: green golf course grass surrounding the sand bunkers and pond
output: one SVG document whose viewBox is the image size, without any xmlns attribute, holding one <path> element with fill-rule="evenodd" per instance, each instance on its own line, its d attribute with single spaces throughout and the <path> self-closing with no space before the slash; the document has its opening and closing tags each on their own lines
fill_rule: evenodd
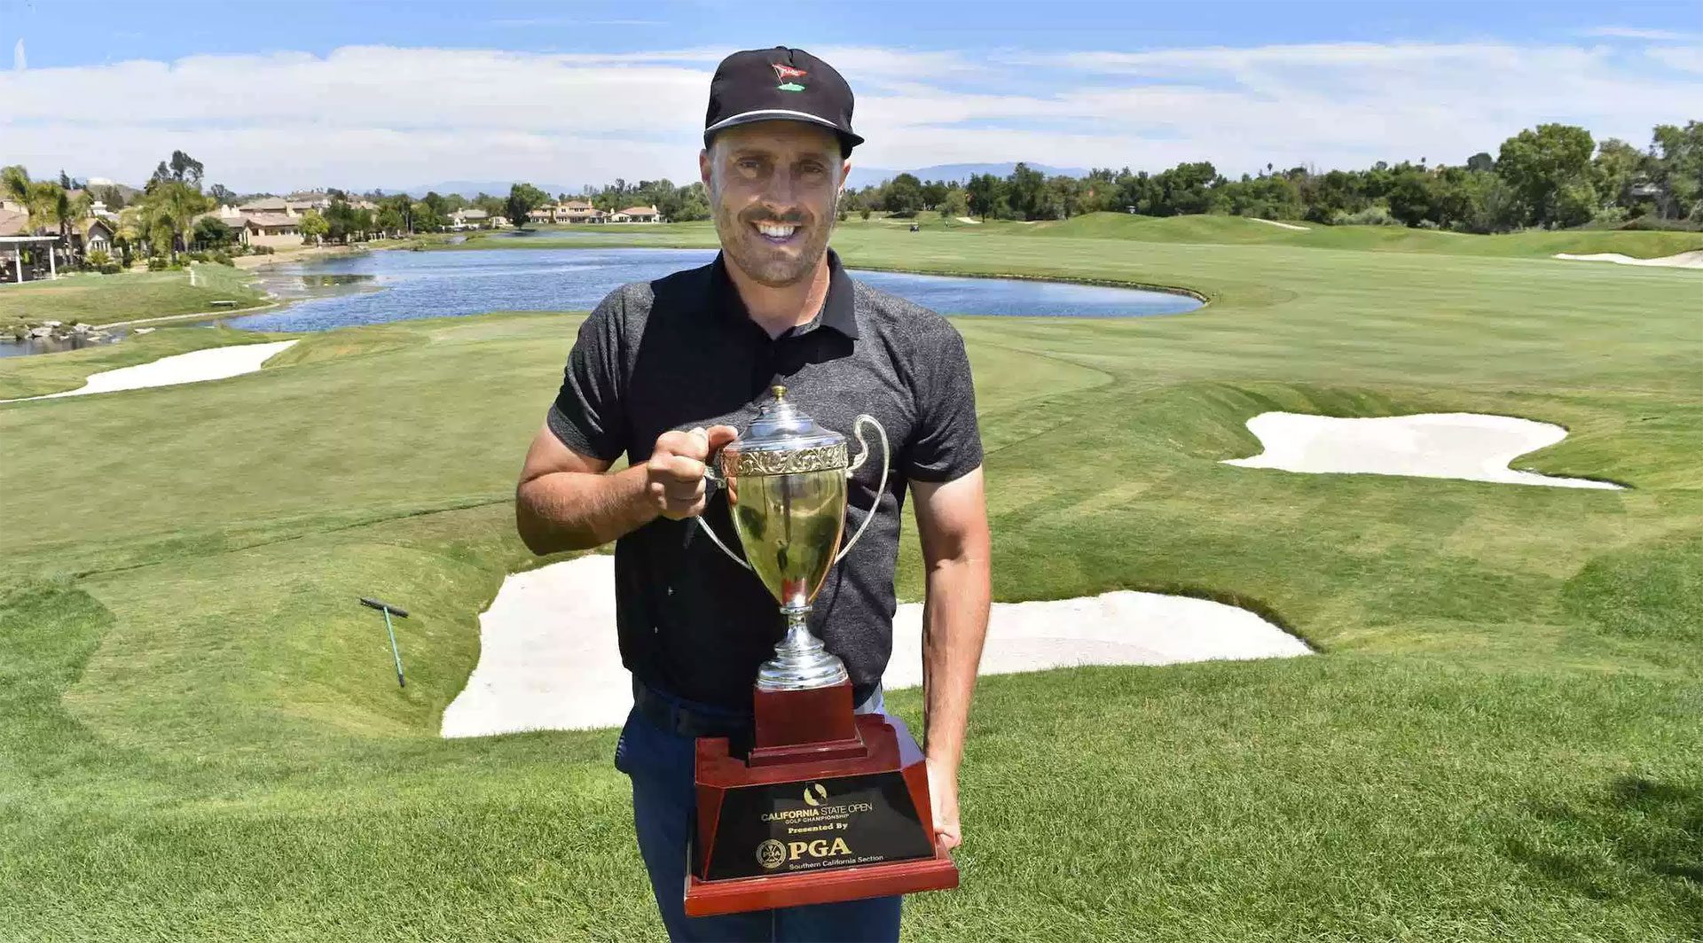
<svg viewBox="0 0 1703 943">
<path fill-rule="evenodd" d="M 715 245 L 634 231 L 441 250 Z M 1196 596 L 1315 652 L 983 677 L 962 885 L 908 899 L 908 940 L 1703 938 L 1703 272 L 1551 257 L 1700 233 L 1098 213 L 833 245 L 1204 298 L 954 318 L 993 596 Z M 106 291 L 131 277 L 203 310 L 162 288 L 184 272 Z M 60 317 L 54 284 L 82 281 L 0 286 L 0 315 Z M 523 546 L 514 483 L 582 317 L 162 322 L 0 359 L 0 398 L 32 397 L 300 337 L 244 376 L 0 405 L 0 940 L 661 938 L 616 730 L 439 735 L 504 577 L 572 557 Z M 1555 424 L 1512 468 L 1621 489 L 1224 465 L 1267 412 Z M 409 611 L 405 688 L 359 597 Z M 920 691 L 887 703 L 921 730 Z"/>
</svg>

